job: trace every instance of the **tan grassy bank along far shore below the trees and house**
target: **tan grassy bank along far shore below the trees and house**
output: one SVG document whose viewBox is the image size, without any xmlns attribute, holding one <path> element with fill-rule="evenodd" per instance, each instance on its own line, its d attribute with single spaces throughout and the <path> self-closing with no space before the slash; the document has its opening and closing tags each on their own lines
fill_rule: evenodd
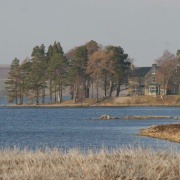
<svg viewBox="0 0 180 180">
<path fill-rule="evenodd" d="M 23 104 L 15 105 L 9 104 L 8 106 L 17 107 L 96 107 L 96 106 L 180 106 L 180 96 L 126 96 L 126 97 L 107 97 L 100 98 L 96 102 L 96 98 L 79 99 L 75 103 L 73 100 L 63 100 L 61 103 L 44 103 L 42 104 Z"/>
</svg>

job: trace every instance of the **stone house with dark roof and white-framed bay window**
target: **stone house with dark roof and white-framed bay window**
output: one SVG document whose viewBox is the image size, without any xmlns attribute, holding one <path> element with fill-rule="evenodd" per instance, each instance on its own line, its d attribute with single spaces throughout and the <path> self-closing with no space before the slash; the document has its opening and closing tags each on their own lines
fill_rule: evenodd
<svg viewBox="0 0 180 180">
<path fill-rule="evenodd" d="M 164 94 L 180 94 L 180 78 L 178 69 L 176 69 L 173 76 L 169 78 L 167 88 L 165 88 L 165 82 L 159 78 L 158 66 L 156 64 L 152 64 L 152 67 L 132 68 L 128 78 L 129 95 L 156 96 Z"/>
</svg>

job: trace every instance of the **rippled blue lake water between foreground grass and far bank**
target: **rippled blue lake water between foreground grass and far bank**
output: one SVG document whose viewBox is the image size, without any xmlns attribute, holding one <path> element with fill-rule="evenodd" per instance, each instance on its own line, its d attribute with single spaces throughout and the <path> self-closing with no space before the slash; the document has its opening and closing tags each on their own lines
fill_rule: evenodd
<svg viewBox="0 0 180 180">
<path fill-rule="evenodd" d="M 179 107 L 89 107 L 89 108 L 12 108 L 0 107 L 0 147 L 61 147 L 81 149 L 117 148 L 142 145 L 180 149 L 179 143 L 140 137 L 140 128 L 155 124 L 178 123 L 161 120 L 89 120 L 102 114 L 180 116 Z"/>
</svg>

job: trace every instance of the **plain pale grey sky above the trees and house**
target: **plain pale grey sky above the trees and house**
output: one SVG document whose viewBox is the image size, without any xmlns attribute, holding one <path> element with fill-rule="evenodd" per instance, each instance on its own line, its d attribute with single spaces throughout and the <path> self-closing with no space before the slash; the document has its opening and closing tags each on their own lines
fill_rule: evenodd
<svg viewBox="0 0 180 180">
<path fill-rule="evenodd" d="M 95 40 L 121 46 L 136 66 L 180 49 L 180 0 L 0 0 L 0 64 L 54 41 L 64 52 Z"/>
</svg>

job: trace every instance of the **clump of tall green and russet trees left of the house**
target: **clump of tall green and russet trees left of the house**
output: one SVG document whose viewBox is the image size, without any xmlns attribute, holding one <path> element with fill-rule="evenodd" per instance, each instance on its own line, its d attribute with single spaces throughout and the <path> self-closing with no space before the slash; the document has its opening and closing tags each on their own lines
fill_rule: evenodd
<svg viewBox="0 0 180 180">
<path fill-rule="evenodd" d="M 122 47 L 106 46 L 91 40 L 64 53 L 60 42 L 54 42 L 46 51 L 45 46 L 35 46 L 31 58 L 20 62 L 15 58 L 5 82 L 8 101 L 23 104 L 24 98 L 34 103 L 61 102 L 63 90 L 69 89 L 71 99 L 89 98 L 90 87 L 95 84 L 96 100 L 99 88 L 104 97 L 111 97 L 127 82 L 131 60 Z M 41 97 L 41 98 L 40 98 Z"/>
</svg>

